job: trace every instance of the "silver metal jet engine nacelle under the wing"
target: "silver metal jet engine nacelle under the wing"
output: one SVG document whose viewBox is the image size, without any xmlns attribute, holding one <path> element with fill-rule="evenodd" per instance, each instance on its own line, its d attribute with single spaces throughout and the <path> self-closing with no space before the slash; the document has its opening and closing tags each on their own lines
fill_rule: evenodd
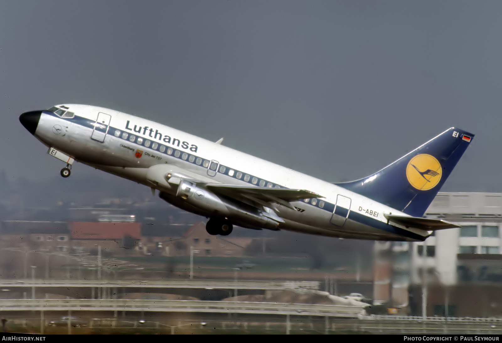
<svg viewBox="0 0 502 343">
<path fill-rule="evenodd" d="M 176 196 L 206 213 L 209 217 L 222 216 L 236 223 L 244 222 L 258 228 L 271 230 L 277 230 L 279 226 L 279 222 L 270 218 L 272 215 L 263 210 L 218 196 L 186 180 L 180 182 Z M 274 216 L 277 217 L 275 213 Z"/>
</svg>

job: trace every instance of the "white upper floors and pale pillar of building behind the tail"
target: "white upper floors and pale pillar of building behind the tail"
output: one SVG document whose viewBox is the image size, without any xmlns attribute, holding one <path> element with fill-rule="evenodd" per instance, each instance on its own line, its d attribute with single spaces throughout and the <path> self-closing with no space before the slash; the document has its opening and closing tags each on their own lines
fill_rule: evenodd
<svg viewBox="0 0 502 343">
<path fill-rule="evenodd" d="M 500 254 L 502 194 L 439 193 L 426 217 L 462 226 L 436 231 L 425 242 L 412 243 L 411 280 L 421 283 L 424 263 L 441 284 L 457 283 L 458 254 Z M 423 256 L 426 246 L 427 256 Z"/>
</svg>

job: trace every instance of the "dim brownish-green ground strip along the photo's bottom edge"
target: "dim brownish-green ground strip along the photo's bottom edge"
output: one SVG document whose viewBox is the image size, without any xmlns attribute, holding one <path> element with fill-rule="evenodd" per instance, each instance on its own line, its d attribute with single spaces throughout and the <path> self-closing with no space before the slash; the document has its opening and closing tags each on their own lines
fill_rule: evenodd
<svg viewBox="0 0 502 343">
<path fill-rule="evenodd" d="M 19 332 L 41 333 L 165 333 L 165 334 L 502 334 L 502 326 L 490 324 L 490 318 L 475 318 L 476 321 L 452 321 L 448 324 L 438 321 L 411 320 L 372 320 L 365 319 L 334 319 L 327 317 L 249 317 L 228 318 L 228 320 L 210 321 L 165 321 L 142 317 L 122 318 L 92 318 L 86 324 L 73 327 L 67 325 L 50 326 L 40 319 L 18 319 L 10 323 L 12 329 Z M 488 319 L 483 321 L 482 319 Z"/>
</svg>

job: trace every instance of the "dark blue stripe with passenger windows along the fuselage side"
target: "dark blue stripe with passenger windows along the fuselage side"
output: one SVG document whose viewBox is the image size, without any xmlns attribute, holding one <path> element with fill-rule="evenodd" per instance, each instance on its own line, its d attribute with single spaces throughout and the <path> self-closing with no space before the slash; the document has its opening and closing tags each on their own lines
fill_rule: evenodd
<svg viewBox="0 0 502 343">
<path fill-rule="evenodd" d="M 75 115 L 72 118 L 64 118 L 64 117 L 60 117 L 57 114 L 55 114 L 53 112 L 50 112 L 50 111 L 43 111 L 43 112 L 45 114 L 47 114 L 47 115 L 50 115 L 50 116 L 53 116 L 53 117 L 56 117 L 56 118 L 59 118 L 59 119 L 63 119 L 63 120 L 66 120 L 66 121 L 69 121 L 69 122 L 71 122 L 73 124 L 76 124 L 76 125 L 87 127 L 87 128 L 89 128 L 91 130 L 94 129 L 94 124 L 96 122 L 95 120 L 91 120 L 91 119 L 88 119 L 88 118 L 85 118 L 85 117 L 80 117 L 80 116 L 77 116 L 77 115 Z M 104 132 L 106 132 L 106 128 L 99 129 L 99 131 L 104 133 Z M 147 149 L 150 149 L 150 150 L 155 150 L 155 151 L 157 151 L 157 152 L 159 152 L 161 154 L 172 156 L 172 157 L 176 157 L 176 158 L 184 160 L 186 162 L 189 162 L 189 163 L 201 166 L 201 167 L 204 168 L 204 170 L 208 170 L 208 166 L 211 163 L 211 160 L 209 160 L 209 159 L 199 157 L 197 155 L 194 155 L 193 153 L 189 153 L 189 152 L 186 152 L 184 150 L 180 150 L 180 149 L 176 149 L 176 148 L 170 147 L 167 144 L 160 144 L 158 142 L 155 142 L 155 141 L 153 141 L 151 139 L 151 137 L 146 138 L 144 136 L 140 136 L 140 135 L 137 135 L 137 134 L 134 134 L 134 133 L 129 133 L 127 131 L 120 130 L 120 129 L 112 127 L 112 126 L 108 126 L 107 135 L 110 135 L 110 136 L 113 136 L 115 138 L 121 139 L 124 142 L 128 142 L 129 144 L 137 144 L 137 145 L 140 145 L 142 148 L 147 148 Z M 141 141 L 141 142 L 139 142 L 139 141 Z M 148 144 L 149 146 L 146 146 L 145 144 Z M 155 144 L 157 144 L 157 145 L 155 146 Z M 154 148 L 154 146 L 155 146 L 155 148 Z M 204 164 L 206 164 L 206 166 L 204 166 Z M 230 175 L 231 172 L 233 172 L 232 175 Z M 258 177 L 253 176 L 253 175 L 246 174 L 243 171 L 236 170 L 236 169 L 230 168 L 230 167 L 228 167 L 226 165 L 222 165 L 222 164 L 218 165 L 218 173 L 226 175 L 228 177 L 231 177 L 231 178 L 233 178 L 235 180 L 244 181 L 244 182 L 246 182 L 248 184 L 255 185 L 255 186 L 259 186 L 260 184 L 263 184 L 264 185 L 263 187 L 266 186 L 266 187 L 269 187 L 269 188 L 288 189 L 287 187 L 284 187 L 284 186 L 272 183 L 272 182 L 267 181 L 265 179 L 260 179 Z M 256 180 L 256 182 L 253 183 L 253 181 L 255 181 L 255 180 Z M 314 204 L 314 201 L 315 201 L 315 204 Z M 349 212 L 347 209 L 342 208 L 340 206 L 337 206 L 336 207 L 336 211 L 335 211 L 335 205 L 334 204 L 326 202 L 324 200 L 320 200 L 318 198 L 305 199 L 303 202 L 305 204 L 308 204 L 310 206 L 316 207 L 318 209 L 321 209 L 321 210 L 329 212 L 329 213 L 335 212 L 336 215 L 339 215 L 339 216 L 341 216 L 343 218 L 346 218 L 347 217 L 347 212 Z M 419 239 L 422 239 L 421 236 L 418 236 L 416 234 L 410 233 L 410 232 L 408 232 L 406 230 L 395 228 L 395 227 L 393 227 L 391 225 L 388 225 L 386 223 L 383 223 L 383 222 L 381 222 L 379 220 L 366 217 L 366 216 L 361 215 L 359 213 L 356 213 L 354 211 L 350 211 L 349 212 L 348 218 L 351 219 L 351 220 L 360 222 L 362 224 L 369 225 L 371 227 L 375 227 L 375 228 L 378 228 L 378 229 L 381 229 L 381 230 L 384 230 L 384 231 L 387 231 L 387 232 L 395 233 L 395 234 L 398 234 L 398 235 L 401 235 L 401 236 L 406 236 L 406 237 L 410 237 L 410 238 L 415 238 L 414 236 L 417 236 L 417 237 L 420 237 Z M 353 219 L 353 218 L 360 218 L 360 219 Z M 396 229 L 402 231 L 402 233 L 401 232 L 398 233 L 396 231 Z"/>
</svg>

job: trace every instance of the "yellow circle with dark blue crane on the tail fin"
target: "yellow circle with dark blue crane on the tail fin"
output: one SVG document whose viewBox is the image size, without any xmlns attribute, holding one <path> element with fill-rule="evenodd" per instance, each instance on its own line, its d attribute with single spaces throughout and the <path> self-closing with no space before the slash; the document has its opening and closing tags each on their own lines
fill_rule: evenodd
<svg viewBox="0 0 502 343">
<path fill-rule="evenodd" d="M 406 167 L 406 178 L 417 190 L 430 190 L 441 180 L 441 164 L 429 154 L 416 155 Z"/>
</svg>

